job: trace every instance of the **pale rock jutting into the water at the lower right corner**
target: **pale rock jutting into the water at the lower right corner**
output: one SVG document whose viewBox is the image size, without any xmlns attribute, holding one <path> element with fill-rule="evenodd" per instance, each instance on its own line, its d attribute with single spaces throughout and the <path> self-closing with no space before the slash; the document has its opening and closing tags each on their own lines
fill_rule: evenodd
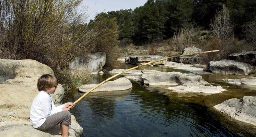
<svg viewBox="0 0 256 137">
<path fill-rule="evenodd" d="M 242 99 L 229 99 L 213 108 L 236 120 L 256 126 L 256 97 L 244 96 Z"/>
</svg>

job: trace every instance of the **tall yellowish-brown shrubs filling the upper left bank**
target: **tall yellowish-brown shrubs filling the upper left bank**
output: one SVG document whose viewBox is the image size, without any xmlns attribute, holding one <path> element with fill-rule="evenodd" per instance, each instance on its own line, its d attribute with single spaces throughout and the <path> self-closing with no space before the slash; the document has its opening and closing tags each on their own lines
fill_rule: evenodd
<svg viewBox="0 0 256 137">
<path fill-rule="evenodd" d="M 111 66 L 120 53 L 116 21 L 98 17 L 87 24 L 86 9 L 77 10 L 80 3 L 0 0 L 0 58 L 37 60 L 63 75 L 57 71 L 67 68 L 71 59 L 102 51 L 106 66 Z"/>
</svg>

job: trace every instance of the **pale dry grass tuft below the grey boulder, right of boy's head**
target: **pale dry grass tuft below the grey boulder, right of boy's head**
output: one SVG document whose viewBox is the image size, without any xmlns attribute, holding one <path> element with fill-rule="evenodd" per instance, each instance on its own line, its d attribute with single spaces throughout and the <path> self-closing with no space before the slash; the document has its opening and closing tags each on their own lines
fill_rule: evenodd
<svg viewBox="0 0 256 137">
<path fill-rule="evenodd" d="M 74 70 L 57 69 L 56 77 L 62 83 L 63 87 L 78 89 L 81 85 L 90 82 L 91 74 L 86 67 L 79 67 Z"/>
</svg>

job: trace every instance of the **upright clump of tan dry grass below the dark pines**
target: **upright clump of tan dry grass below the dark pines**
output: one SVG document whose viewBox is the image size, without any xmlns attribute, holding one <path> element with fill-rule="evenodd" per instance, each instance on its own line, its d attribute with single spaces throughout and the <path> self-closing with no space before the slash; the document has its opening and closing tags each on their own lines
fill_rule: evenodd
<svg viewBox="0 0 256 137">
<path fill-rule="evenodd" d="M 179 30 L 179 33 L 174 33 L 173 36 L 173 43 L 174 46 L 178 48 L 178 50 L 183 50 L 187 47 L 191 47 L 193 43 L 193 37 L 195 35 L 195 29 L 194 28 L 182 28 Z"/>
</svg>

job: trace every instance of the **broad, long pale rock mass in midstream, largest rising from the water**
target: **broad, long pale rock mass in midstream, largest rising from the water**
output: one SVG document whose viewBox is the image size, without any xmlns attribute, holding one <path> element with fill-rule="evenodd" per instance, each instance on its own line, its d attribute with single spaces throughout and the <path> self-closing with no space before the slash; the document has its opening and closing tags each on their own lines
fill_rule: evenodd
<svg viewBox="0 0 256 137">
<path fill-rule="evenodd" d="M 143 70 L 142 72 L 148 72 Z M 154 74 L 143 73 L 139 76 L 126 76 L 125 78 L 143 82 L 147 85 L 172 85 L 169 87 L 175 92 L 202 92 L 219 93 L 225 91 L 221 86 L 212 86 L 202 79 L 200 75 L 186 74 L 181 72 L 155 72 Z"/>
</svg>

